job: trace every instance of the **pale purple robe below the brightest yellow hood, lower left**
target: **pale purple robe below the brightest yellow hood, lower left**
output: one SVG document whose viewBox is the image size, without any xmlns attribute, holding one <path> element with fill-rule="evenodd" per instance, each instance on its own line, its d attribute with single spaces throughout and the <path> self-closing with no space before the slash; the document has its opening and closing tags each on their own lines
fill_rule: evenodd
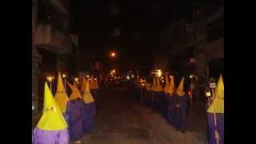
<svg viewBox="0 0 256 144">
<path fill-rule="evenodd" d="M 32 133 L 32 144 L 69 144 L 69 132 L 64 130 L 41 130 L 36 127 Z"/>
</svg>

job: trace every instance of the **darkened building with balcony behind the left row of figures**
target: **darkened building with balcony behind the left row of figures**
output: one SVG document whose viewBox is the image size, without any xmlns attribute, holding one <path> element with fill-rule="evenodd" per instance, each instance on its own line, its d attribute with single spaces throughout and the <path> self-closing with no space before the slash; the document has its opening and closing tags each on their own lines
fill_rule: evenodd
<svg viewBox="0 0 256 144">
<path fill-rule="evenodd" d="M 32 0 L 33 111 L 42 108 L 47 76 L 54 75 L 56 82 L 58 71 L 76 73 L 78 36 L 70 34 L 69 6 L 69 0 Z"/>
</svg>

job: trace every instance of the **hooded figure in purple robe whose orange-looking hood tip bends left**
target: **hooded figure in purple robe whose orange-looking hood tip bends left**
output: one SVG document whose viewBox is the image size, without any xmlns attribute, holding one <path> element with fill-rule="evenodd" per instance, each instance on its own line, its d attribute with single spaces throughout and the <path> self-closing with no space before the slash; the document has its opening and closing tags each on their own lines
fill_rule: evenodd
<svg viewBox="0 0 256 144">
<path fill-rule="evenodd" d="M 82 117 L 83 117 L 83 102 L 80 91 L 76 86 L 72 86 L 67 82 L 72 90 L 70 95 L 70 102 L 67 103 L 66 118 L 69 125 L 70 141 L 81 143 L 82 138 Z"/>
</svg>

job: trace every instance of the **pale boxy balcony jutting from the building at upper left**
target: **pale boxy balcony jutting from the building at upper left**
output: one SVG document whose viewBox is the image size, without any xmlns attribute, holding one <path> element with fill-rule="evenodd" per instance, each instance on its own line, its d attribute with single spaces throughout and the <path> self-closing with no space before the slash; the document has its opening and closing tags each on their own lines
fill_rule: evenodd
<svg viewBox="0 0 256 144">
<path fill-rule="evenodd" d="M 71 52 L 70 36 L 50 24 L 38 25 L 34 36 L 34 43 L 40 48 L 57 54 Z"/>
</svg>

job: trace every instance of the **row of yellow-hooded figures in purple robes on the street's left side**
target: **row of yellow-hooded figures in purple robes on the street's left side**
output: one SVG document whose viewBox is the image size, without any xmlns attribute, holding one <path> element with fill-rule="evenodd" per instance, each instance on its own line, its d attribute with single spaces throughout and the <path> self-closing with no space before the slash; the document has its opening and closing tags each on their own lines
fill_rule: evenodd
<svg viewBox="0 0 256 144">
<path fill-rule="evenodd" d="M 90 82 L 82 78 L 81 92 L 76 82 L 67 84 L 72 91 L 70 97 L 66 94 L 60 73 L 55 96 L 45 83 L 42 116 L 32 131 L 33 144 L 81 143 L 82 136 L 93 130 L 97 78 Z"/>
</svg>

